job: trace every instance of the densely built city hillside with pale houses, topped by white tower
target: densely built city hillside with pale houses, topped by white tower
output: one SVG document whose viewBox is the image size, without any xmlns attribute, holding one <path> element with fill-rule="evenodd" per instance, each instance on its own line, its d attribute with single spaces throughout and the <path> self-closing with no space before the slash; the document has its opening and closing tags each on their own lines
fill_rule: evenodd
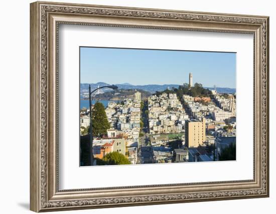
<svg viewBox="0 0 276 214">
<path fill-rule="evenodd" d="M 121 90 L 109 92 L 109 98 Z M 191 73 L 189 84 L 178 88 L 155 93 L 125 90 L 127 95 L 109 99 L 106 105 L 100 96 L 108 91 L 95 96 L 92 152 L 89 106 L 80 109 L 81 166 L 91 165 L 89 155 L 92 165 L 235 160 L 235 93 L 193 85 Z M 81 93 L 87 99 L 86 92 Z"/>
</svg>

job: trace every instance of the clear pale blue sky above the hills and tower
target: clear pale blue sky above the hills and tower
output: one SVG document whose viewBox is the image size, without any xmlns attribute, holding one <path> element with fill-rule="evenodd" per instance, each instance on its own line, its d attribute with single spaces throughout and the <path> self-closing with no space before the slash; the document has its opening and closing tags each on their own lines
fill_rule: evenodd
<svg viewBox="0 0 276 214">
<path fill-rule="evenodd" d="M 119 48 L 80 48 L 80 82 L 132 85 L 189 82 L 236 88 L 236 54 Z"/>
</svg>

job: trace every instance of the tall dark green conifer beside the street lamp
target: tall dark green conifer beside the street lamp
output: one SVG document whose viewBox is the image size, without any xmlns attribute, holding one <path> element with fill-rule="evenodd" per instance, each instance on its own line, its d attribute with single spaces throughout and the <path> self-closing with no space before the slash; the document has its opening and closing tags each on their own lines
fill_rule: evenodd
<svg viewBox="0 0 276 214">
<path fill-rule="evenodd" d="M 110 124 L 107 120 L 104 106 L 100 102 L 96 102 L 92 109 L 92 133 L 93 136 L 102 136 L 107 133 Z"/>
</svg>

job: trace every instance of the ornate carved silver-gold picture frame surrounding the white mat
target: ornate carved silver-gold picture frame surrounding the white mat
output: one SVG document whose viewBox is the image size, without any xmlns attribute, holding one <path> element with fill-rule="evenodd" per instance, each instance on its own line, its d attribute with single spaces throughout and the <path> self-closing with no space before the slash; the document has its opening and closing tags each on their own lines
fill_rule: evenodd
<svg viewBox="0 0 276 214">
<path fill-rule="evenodd" d="M 253 129 L 253 179 L 60 189 L 59 25 L 253 35 L 253 124 L 248 126 L 248 129 Z M 35 2 L 31 4 L 30 26 L 31 210 L 57 211 L 269 196 L 268 17 Z"/>
</svg>

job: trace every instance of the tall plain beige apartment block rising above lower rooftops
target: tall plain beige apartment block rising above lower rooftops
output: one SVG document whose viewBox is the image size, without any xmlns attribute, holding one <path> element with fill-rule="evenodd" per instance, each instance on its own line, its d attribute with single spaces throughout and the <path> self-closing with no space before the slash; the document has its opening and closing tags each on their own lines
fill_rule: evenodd
<svg viewBox="0 0 276 214">
<path fill-rule="evenodd" d="M 185 122 L 185 145 L 198 147 L 205 141 L 205 118 L 199 120 L 186 120 Z"/>
</svg>

